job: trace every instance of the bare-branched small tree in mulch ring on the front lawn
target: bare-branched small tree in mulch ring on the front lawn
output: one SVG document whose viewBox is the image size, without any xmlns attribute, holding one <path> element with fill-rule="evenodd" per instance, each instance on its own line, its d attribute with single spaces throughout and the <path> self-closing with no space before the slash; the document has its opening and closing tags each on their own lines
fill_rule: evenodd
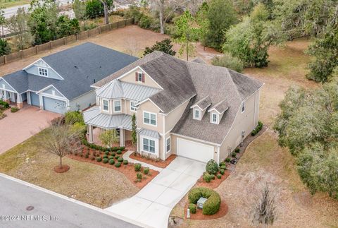
<svg viewBox="0 0 338 228">
<path fill-rule="evenodd" d="M 46 131 L 40 143 L 42 150 L 57 155 L 62 168 L 62 159 L 65 155 L 81 150 L 80 131 L 75 130 L 71 125 L 61 124 L 60 121 L 52 124 Z"/>
</svg>

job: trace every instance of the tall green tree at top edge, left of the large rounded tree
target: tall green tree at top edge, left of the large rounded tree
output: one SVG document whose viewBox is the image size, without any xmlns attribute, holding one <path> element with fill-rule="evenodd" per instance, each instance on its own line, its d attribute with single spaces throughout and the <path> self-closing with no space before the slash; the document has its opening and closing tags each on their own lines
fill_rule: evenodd
<svg viewBox="0 0 338 228">
<path fill-rule="evenodd" d="M 208 2 L 207 18 L 208 28 L 208 46 L 215 49 L 221 49 L 225 42 L 224 33 L 238 22 L 237 13 L 231 0 L 211 0 Z"/>
</svg>

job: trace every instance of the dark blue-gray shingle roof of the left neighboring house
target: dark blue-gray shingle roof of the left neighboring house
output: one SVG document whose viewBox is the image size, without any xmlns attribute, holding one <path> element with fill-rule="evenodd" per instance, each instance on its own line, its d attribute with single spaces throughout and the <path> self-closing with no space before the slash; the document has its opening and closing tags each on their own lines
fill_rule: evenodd
<svg viewBox="0 0 338 228">
<path fill-rule="evenodd" d="M 15 90 L 41 90 L 54 85 L 68 100 L 73 100 L 90 90 L 90 85 L 115 71 L 137 61 L 137 58 L 90 42 L 42 58 L 64 80 L 32 76 L 17 71 L 4 76 Z M 32 76 L 32 77 L 31 77 Z M 8 80 L 7 80 L 8 79 Z"/>
</svg>

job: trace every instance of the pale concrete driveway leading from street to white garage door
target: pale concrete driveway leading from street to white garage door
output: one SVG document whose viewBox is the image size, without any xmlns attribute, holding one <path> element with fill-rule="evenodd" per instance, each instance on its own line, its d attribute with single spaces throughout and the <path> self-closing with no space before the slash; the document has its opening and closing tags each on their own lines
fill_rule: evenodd
<svg viewBox="0 0 338 228">
<path fill-rule="evenodd" d="M 139 193 L 106 210 L 149 227 L 168 227 L 171 210 L 196 184 L 205 168 L 203 162 L 176 157 Z"/>
</svg>

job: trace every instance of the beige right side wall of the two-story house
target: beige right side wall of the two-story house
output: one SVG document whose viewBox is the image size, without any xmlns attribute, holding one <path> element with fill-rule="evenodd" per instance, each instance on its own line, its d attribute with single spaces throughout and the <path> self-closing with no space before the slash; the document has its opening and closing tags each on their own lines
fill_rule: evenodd
<svg viewBox="0 0 338 228">
<path fill-rule="evenodd" d="M 257 94 L 258 95 L 257 95 Z M 246 136 L 249 136 L 253 128 L 257 126 L 258 108 L 259 108 L 259 90 L 251 95 L 245 102 L 245 110 L 242 113 L 242 107 L 238 110 L 237 116 L 234 119 L 232 128 L 230 129 L 227 138 L 220 147 L 220 160 L 230 155 Z M 255 114 L 256 109 L 256 114 Z M 244 138 L 242 138 L 242 131 L 245 131 Z"/>
</svg>

